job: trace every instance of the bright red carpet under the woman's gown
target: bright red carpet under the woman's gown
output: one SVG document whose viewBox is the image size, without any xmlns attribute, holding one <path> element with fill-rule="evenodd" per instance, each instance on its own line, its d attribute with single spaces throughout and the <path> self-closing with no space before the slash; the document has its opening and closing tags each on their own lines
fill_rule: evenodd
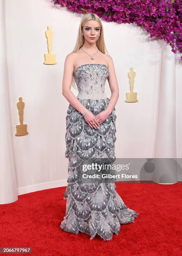
<svg viewBox="0 0 182 256">
<path fill-rule="evenodd" d="M 121 225 L 112 241 L 84 233 L 65 233 L 66 187 L 20 195 L 0 205 L 0 247 L 32 247 L 32 255 L 182 255 L 182 183 L 120 183 L 117 192 L 139 213 L 134 223 Z M 8 255 L 8 254 L 0 254 Z M 30 254 L 12 254 L 30 255 Z"/>
</svg>

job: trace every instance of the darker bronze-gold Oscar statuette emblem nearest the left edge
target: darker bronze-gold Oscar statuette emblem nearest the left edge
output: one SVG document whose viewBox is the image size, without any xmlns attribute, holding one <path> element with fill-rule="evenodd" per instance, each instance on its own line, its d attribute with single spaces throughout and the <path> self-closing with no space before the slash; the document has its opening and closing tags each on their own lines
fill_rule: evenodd
<svg viewBox="0 0 182 256">
<path fill-rule="evenodd" d="M 20 125 L 16 125 L 16 131 L 17 133 L 15 136 L 23 136 L 27 135 L 27 125 L 23 124 L 23 109 L 24 109 L 25 103 L 22 102 L 22 97 L 19 97 L 19 102 L 17 102 L 17 108 L 18 108 L 18 114 L 19 114 L 19 120 Z"/>
</svg>

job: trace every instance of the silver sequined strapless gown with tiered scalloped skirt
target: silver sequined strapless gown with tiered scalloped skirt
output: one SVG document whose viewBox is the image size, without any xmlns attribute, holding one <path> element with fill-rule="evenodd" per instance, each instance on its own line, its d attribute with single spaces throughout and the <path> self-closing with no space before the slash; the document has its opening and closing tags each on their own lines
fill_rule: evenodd
<svg viewBox="0 0 182 256">
<path fill-rule="evenodd" d="M 79 93 L 77 99 L 97 115 L 105 110 L 109 98 L 105 95 L 105 81 L 109 75 L 104 64 L 83 64 L 75 71 Z M 116 192 L 115 183 L 100 185 L 80 184 L 77 166 L 90 158 L 110 158 L 115 161 L 115 108 L 100 129 L 91 128 L 81 113 L 69 105 L 66 116 L 66 151 L 69 159 L 66 212 L 60 228 L 78 234 L 79 231 L 93 239 L 99 235 L 111 240 L 118 234 L 120 224 L 134 222 L 138 213 L 128 208 Z"/>
</svg>

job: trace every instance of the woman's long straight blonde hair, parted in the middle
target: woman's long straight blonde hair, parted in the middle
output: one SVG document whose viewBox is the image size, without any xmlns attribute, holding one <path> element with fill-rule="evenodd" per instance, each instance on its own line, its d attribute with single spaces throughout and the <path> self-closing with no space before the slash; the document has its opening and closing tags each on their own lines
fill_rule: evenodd
<svg viewBox="0 0 182 256">
<path fill-rule="evenodd" d="M 107 50 L 106 50 L 105 42 L 104 42 L 103 26 L 102 26 L 102 22 L 101 22 L 99 16 L 97 16 L 95 13 L 86 13 L 82 17 L 82 20 L 80 21 L 80 26 L 78 29 L 77 42 L 76 42 L 74 50 L 71 53 L 76 52 L 77 50 L 79 50 L 82 47 L 84 40 L 85 40 L 84 37 L 82 36 L 82 28 L 88 20 L 96 20 L 100 24 L 100 36 L 99 36 L 98 40 L 96 41 L 96 46 L 103 54 L 105 54 L 105 51 L 107 51 Z M 108 51 L 107 51 L 107 54 L 108 54 Z M 74 75 L 72 78 L 73 78 L 72 79 L 72 87 L 75 88 L 76 90 L 78 90 L 76 87 Z"/>
</svg>

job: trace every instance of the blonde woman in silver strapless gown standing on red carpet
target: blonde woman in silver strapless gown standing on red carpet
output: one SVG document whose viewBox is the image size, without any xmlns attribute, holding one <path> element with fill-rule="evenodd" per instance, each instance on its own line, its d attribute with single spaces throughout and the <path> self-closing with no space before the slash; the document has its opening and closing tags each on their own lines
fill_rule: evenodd
<svg viewBox="0 0 182 256">
<path fill-rule="evenodd" d="M 78 95 L 70 91 L 73 78 Z M 75 79 L 75 80 L 74 80 Z M 112 95 L 105 95 L 108 79 Z M 115 161 L 115 104 L 119 89 L 112 58 L 105 54 L 100 18 L 87 13 L 82 17 L 74 51 L 65 59 L 62 94 L 70 102 L 66 116 L 66 152 L 69 159 L 66 213 L 60 228 L 99 235 L 103 240 L 118 234 L 120 224 L 131 223 L 138 213 L 128 208 L 117 194 L 115 183 L 80 182 L 79 166 L 89 159 Z"/>
</svg>

